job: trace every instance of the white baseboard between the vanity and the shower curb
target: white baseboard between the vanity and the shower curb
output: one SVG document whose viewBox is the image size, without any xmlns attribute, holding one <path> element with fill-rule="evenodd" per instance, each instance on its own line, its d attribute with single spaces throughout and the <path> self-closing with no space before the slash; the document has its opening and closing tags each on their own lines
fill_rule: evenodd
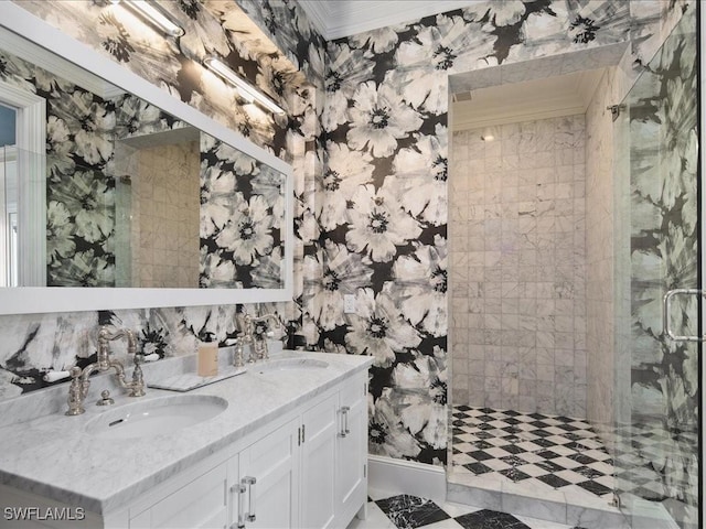
<svg viewBox="0 0 706 529">
<path fill-rule="evenodd" d="M 446 472 L 442 466 L 368 455 L 367 468 L 371 489 L 446 501 Z"/>
</svg>

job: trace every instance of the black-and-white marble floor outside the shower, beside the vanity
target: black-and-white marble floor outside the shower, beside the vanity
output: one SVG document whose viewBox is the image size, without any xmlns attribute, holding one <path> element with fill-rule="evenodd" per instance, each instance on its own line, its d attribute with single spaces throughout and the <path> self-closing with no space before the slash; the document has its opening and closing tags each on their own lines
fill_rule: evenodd
<svg viewBox="0 0 706 529">
<path fill-rule="evenodd" d="M 355 518 L 347 529 L 569 529 L 571 526 L 526 516 L 443 503 L 406 494 L 387 496 L 371 490 L 367 519 Z M 579 528 L 580 529 L 580 528 Z"/>
</svg>

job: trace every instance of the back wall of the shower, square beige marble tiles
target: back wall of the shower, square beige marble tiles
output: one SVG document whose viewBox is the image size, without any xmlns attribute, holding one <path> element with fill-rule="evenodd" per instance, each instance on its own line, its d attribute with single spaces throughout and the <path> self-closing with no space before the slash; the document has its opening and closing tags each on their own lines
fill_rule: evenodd
<svg viewBox="0 0 706 529">
<path fill-rule="evenodd" d="M 454 403 L 586 415 L 584 116 L 453 134 Z"/>
</svg>

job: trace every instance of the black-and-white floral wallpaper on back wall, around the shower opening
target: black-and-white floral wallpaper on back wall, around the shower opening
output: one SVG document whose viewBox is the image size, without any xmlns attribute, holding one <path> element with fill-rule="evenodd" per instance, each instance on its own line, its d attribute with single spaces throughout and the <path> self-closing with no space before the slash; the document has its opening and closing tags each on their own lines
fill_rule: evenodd
<svg viewBox="0 0 706 529">
<path fill-rule="evenodd" d="M 621 42 L 630 24 L 625 2 L 478 2 L 329 43 L 317 295 L 352 293 L 357 311 L 312 319 L 320 346 L 375 357 L 371 453 L 446 463 L 449 76 Z"/>
</svg>

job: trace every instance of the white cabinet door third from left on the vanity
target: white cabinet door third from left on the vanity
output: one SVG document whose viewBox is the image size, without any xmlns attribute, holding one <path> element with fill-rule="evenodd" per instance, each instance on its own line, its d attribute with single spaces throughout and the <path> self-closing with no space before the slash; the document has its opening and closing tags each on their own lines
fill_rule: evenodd
<svg viewBox="0 0 706 529">
<path fill-rule="evenodd" d="M 335 441 L 338 396 L 301 417 L 301 527 L 332 527 L 335 516 Z"/>
</svg>

